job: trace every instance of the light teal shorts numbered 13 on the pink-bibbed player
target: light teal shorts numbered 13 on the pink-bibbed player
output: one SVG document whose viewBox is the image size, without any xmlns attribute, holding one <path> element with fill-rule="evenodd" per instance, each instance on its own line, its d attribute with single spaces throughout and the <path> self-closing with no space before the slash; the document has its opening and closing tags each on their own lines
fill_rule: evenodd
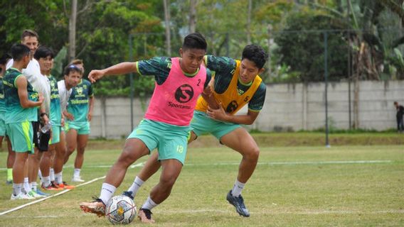
<svg viewBox="0 0 404 227">
<path fill-rule="evenodd" d="M 138 138 L 149 148 L 157 148 L 159 160 L 176 159 L 185 162 L 186 145 L 191 131 L 189 126 L 174 126 L 169 123 L 143 119 L 134 128 L 129 138 Z"/>
</svg>

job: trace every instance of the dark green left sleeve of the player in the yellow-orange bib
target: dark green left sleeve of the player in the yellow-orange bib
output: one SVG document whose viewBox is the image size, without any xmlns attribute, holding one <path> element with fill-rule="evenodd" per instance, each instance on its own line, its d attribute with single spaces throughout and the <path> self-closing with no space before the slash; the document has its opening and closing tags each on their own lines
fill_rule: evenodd
<svg viewBox="0 0 404 227">
<path fill-rule="evenodd" d="M 216 57 L 213 55 L 206 55 L 206 67 L 214 71 L 215 74 L 231 74 L 235 69 L 235 60 L 231 57 Z"/>
</svg>

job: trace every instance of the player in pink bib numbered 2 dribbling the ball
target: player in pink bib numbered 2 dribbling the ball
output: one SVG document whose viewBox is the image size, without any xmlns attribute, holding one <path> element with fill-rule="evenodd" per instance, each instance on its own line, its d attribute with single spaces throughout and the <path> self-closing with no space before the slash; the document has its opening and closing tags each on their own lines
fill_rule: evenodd
<svg viewBox="0 0 404 227">
<path fill-rule="evenodd" d="M 122 62 L 105 70 L 90 72 L 88 77 L 92 82 L 105 75 L 129 72 L 154 75 L 156 87 L 144 119 L 129 135 L 121 155 L 108 172 L 100 198 L 81 203 L 83 211 L 104 216 L 105 204 L 122 183 L 129 165 L 158 148 L 163 167 L 160 180 L 151 189 L 138 214 L 142 222 L 154 223 L 151 209 L 169 196 L 179 177 L 186 157 L 193 109 L 199 94 L 206 92 L 204 89 L 211 80 L 211 73 L 201 65 L 206 47 L 206 40 L 200 33 L 191 33 L 184 38 L 179 50 L 181 57 L 154 57 L 151 60 Z"/>
</svg>

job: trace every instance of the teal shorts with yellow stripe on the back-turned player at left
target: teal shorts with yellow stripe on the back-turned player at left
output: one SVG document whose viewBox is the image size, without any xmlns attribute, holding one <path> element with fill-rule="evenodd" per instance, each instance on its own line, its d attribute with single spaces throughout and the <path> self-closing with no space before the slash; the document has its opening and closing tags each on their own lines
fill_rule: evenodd
<svg viewBox="0 0 404 227">
<path fill-rule="evenodd" d="M 11 148 L 15 152 L 33 154 L 33 129 L 31 121 L 7 123 L 7 133 L 11 141 Z"/>
</svg>

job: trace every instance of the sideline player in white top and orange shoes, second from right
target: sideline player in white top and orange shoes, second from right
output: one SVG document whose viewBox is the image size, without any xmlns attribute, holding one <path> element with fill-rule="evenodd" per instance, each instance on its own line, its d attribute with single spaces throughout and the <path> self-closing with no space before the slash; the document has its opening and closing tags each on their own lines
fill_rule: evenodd
<svg viewBox="0 0 404 227">
<path fill-rule="evenodd" d="M 55 92 L 56 89 L 58 90 L 59 101 L 54 100 L 54 102 L 55 105 L 60 106 L 60 112 L 59 112 L 60 114 L 66 110 L 66 106 L 68 105 L 68 99 L 72 92 L 72 88 L 77 86 L 78 82 L 80 82 L 82 71 L 76 65 L 68 65 L 65 67 L 63 74 L 64 79 L 57 82 L 57 84 L 53 84 L 55 83 L 54 79 L 50 80 L 51 85 L 53 84 L 53 86 L 56 86 L 53 87 L 52 89 L 53 92 Z M 55 143 L 55 147 L 53 147 L 53 145 L 50 146 L 52 148 L 50 149 L 51 152 L 46 153 L 46 155 L 44 155 L 41 160 L 41 162 L 44 162 L 43 165 L 47 165 L 48 167 L 52 165 L 53 166 L 52 169 L 56 173 L 55 175 L 52 176 L 50 171 L 42 172 L 43 176 L 42 188 L 47 190 L 74 188 L 73 185 L 66 185 L 65 182 L 63 182 L 62 178 L 63 160 L 66 153 L 66 143 L 65 143 L 65 131 L 63 131 L 64 118 L 62 114 L 60 115 L 60 118 L 58 118 L 58 116 L 59 114 L 55 116 L 55 124 L 52 125 L 52 131 L 58 131 L 60 133 L 59 141 L 58 143 Z"/>
</svg>

